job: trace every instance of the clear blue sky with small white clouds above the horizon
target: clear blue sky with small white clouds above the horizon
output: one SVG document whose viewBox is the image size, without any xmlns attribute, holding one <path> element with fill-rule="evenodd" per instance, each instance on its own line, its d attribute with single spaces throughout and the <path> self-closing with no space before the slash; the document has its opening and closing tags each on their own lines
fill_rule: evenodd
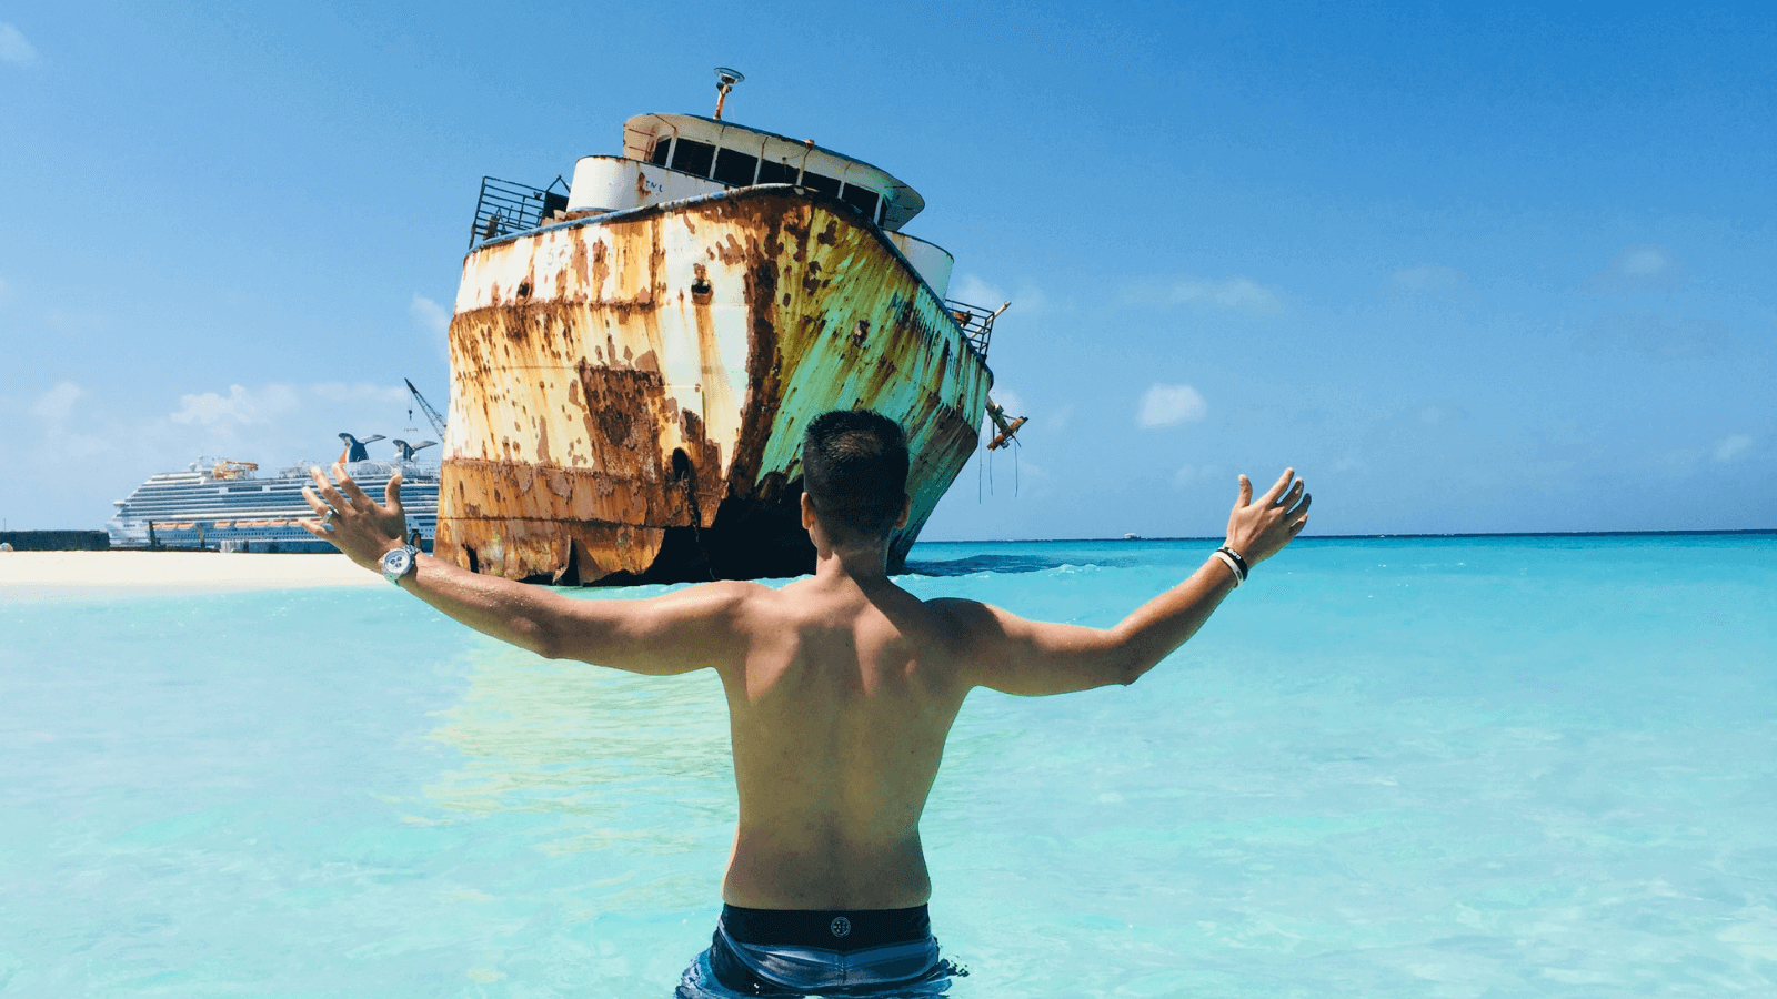
<svg viewBox="0 0 1777 999">
<path fill-rule="evenodd" d="M 0 4 L 0 517 L 402 436 L 482 176 L 727 64 L 1013 300 L 1024 448 L 928 539 L 1214 535 L 1285 464 L 1313 533 L 1777 526 L 1772 52 L 1752 5 Z"/>
</svg>

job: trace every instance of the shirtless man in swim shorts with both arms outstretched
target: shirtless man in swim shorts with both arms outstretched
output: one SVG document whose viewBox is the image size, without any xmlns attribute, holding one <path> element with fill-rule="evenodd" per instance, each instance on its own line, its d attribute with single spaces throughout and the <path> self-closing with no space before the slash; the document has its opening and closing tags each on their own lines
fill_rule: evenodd
<svg viewBox="0 0 1777 999">
<path fill-rule="evenodd" d="M 1303 530 L 1310 503 L 1294 469 L 1256 501 L 1242 475 L 1228 544 L 1116 627 L 1095 629 L 920 601 L 888 579 L 888 537 L 910 505 L 906 444 L 888 420 L 814 420 L 801 464 L 814 576 L 780 590 L 727 581 L 633 601 L 572 599 L 414 555 L 398 476 L 386 505 L 338 464 L 338 487 L 313 469 L 315 489 L 304 491 L 322 515 L 304 521 L 311 533 L 476 631 L 551 659 L 721 675 L 741 811 L 721 917 L 681 995 L 711 979 L 798 995 L 942 978 L 919 816 L 968 691 L 1134 683 L 1208 620 L 1247 567 Z"/>
</svg>

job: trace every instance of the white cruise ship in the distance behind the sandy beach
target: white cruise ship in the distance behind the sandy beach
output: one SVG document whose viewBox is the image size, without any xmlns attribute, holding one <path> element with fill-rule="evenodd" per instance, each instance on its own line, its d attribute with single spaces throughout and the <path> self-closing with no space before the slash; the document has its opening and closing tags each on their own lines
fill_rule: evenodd
<svg viewBox="0 0 1777 999">
<path fill-rule="evenodd" d="M 379 501 L 389 478 L 402 473 L 402 507 L 407 531 L 419 533 L 419 547 L 432 551 L 437 528 L 439 468 L 414 460 L 434 441 L 391 441 L 394 457 L 375 460 L 368 446 L 382 436 L 359 441 L 339 434 L 341 460 L 354 480 Z M 302 498 L 309 468 L 295 464 L 261 476 L 258 464 L 197 459 L 185 471 L 167 471 L 117 500 L 117 512 L 105 524 L 114 547 L 213 547 L 219 551 L 332 551 L 332 546 L 302 530 L 297 521 L 313 517 Z"/>
</svg>

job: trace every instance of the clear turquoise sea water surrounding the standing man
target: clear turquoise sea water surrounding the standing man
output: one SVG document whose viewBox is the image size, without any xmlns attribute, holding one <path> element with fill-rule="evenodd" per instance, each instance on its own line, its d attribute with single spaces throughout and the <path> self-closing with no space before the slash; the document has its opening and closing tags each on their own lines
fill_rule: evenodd
<svg viewBox="0 0 1777 999">
<path fill-rule="evenodd" d="M 1208 547 L 904 583 L 1112 624 Z M 665 997 L 732 821 L 713 675 L 382 587 L 0 604 L 5 995 Z M 1777 537 L 1297 542 L 1132 688 L 972 695 L 924 835 L 961 999 L 1770 995 Z"/>
</svg>

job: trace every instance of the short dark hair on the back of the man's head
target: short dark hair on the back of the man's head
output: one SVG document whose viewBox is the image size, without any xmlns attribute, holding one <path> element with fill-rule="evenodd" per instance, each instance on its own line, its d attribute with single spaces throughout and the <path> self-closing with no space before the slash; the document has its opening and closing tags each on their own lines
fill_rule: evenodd
<svg viewBox="0 0 1777 999">
<path fill-rule="evenodd" d="M 867 409 L 823 412 L 803 436 L 801 484 L 839 542 L 888 537 L 906 498 L 906 434 Z"/>
</svg>

